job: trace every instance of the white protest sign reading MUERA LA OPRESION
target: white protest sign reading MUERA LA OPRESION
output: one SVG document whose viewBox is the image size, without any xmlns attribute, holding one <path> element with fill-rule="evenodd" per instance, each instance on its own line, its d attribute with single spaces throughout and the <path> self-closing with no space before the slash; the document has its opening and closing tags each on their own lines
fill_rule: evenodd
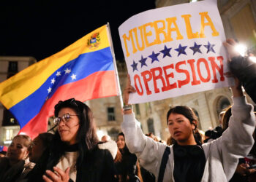
<svg viewBox="0 0 256 182">
<path fill-rule="evenodd" d="M 118 28 L 132 86 L 129 103 L 227 87 L 225 33 L 217 2 L 141 12 Z"/>
</svg>

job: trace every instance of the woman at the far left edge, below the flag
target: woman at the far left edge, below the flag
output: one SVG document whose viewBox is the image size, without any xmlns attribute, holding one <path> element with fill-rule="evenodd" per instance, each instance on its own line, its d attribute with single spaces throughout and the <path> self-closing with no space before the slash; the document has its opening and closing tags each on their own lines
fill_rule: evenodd
<svg viewBox="0 0 256 182">
<path fill-rule="evenodd" d="M 21 181 L 34 167 L 29 162 L 29 146 L 31 138 L 28 135 L 16 135 L 7 150 L 7 157 L 1 158 L 0 181 Z"/>
</svg>

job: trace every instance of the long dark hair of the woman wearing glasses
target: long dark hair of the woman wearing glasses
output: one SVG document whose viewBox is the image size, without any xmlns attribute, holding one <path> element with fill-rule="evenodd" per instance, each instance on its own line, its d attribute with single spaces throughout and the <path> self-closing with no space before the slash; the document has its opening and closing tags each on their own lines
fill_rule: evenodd
<svg viewBox="0 0 256 182">
<path fill-rule="evenodd" d="M 76 114 L 78 114 L 79 119 L 79 129 L 77 135 L 78 141 L 78 151 L 79 157 L 77 159 L 76 166 L 78 169 L 82 167 L 83 159 L 86 157 L 87 151 L 92 151 L 97 143 L 99 142 L 96 134 L 96 128 L 94 125 L 92 111 L 85 103 L 82 103 L 75 98 L 69 100 L 59 101 L 58 104 L 54 107 L 54 115 L 58 116 L 61 108 L 72 108 Z M 48 166 L 53 165 L 58 162 L 62 155 L 64 155 L 64 148 L 67 146 L 67 143 L 61 141 L 59 132 L 55 132 L 53 135 L 52 142 L 52 161 Z"/>
</svg>

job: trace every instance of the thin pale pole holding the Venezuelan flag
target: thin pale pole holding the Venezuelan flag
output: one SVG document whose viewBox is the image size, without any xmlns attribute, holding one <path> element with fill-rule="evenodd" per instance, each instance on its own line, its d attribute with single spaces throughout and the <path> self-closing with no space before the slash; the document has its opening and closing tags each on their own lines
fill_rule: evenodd
<svg viewBox="0 0 256 182">
<path fill-rule="evenodd" d="M 115 52 L 114 52 L 114 48 L 113 48 L 113 42 L 112 42 L 112 36 L 111 36 L 111 32 L 110 32 L 110 24 L 109 23 L 107 23 L 107 28 L 108 28 L 108 37 L 109 37 L 109 41 L 110 41 L 110 50 L 111 50 L 111 54 L 113 57 L 113 63 L 114 63 L 115 74 L 116 74 L 116 84 L 117 84 L 118 92 L 119 92 L 119 100 L 121 103 L 121 107 L 123 107 L 124 102 L 123 102 L 123 98 L 121 97 L 121 87 L 119 84 L 119 77 L 118 77 L 118 71 L 117 71 L 117 66 L 116 66 L 116 57 L 115 57 Z"/>
</svg>

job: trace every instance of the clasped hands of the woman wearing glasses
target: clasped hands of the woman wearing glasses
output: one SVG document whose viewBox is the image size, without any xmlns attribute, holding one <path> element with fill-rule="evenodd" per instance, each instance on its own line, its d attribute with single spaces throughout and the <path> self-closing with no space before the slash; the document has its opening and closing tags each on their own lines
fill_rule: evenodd
<svg viewBox="0 0 256 182">
<path fill-rule="evenodd" d="M 59 167 L 53 167 L 54 173 L 50 170 L 46 170 L 46 175 L 42 175 L 42 178 L 45 182 L 68 182 L 69 181 L 69 170 L 70 167 L 67 167 L 65 171 L 61 170 Z"/>
</svg>

